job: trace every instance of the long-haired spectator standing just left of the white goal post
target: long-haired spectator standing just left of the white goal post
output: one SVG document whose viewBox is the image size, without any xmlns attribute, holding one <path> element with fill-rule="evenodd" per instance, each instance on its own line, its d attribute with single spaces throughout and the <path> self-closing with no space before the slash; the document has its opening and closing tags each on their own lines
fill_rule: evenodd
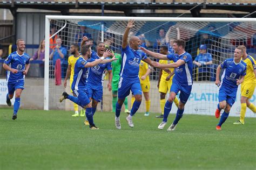
<svg viewBox="0 0 256 170">
<path fill-rule="evenodd" d="M 50 48 L 50 54 L 52 52 L 52 49 Z M 32 60 L 41 60 L 44 62 L 44 54 L 45 54 L 45 40 L 41 40 L 39 44 L 39 48 L 33 55 L 33 57 L 30 59 Z M 44 63 L 39 64 L 39 77 L 44 77 Z"/>
</svg>

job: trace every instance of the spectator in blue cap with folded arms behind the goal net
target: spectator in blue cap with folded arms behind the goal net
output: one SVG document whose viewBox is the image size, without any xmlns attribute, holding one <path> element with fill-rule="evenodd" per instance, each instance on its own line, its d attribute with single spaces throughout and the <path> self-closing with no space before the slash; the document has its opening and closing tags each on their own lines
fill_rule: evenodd
<svg viewBox="0 0 256 170">
<path fill-rule="evenodd" d="M 207 65 L 212 64 L 212 55 L 207 53 L 207 46 L 205 44 L 200 45 L 199 54 L 196 59 L 194 59 L 193 64 L 199 67 L 198 69 L 198 81 L 210 81 L 210 67 Z"/>
</svg>

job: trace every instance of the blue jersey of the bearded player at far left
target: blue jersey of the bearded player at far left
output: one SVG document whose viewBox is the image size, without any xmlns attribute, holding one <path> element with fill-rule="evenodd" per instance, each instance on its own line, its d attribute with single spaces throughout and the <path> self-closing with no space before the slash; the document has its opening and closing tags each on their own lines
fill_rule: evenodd
<svg viewBox="0 0 256 170">
<path fill-rule="evenodd" d="M 7 72 L 7 81 L 13 82 L 17 80 L 24 80 L 25 75 L 23 74 L 23 71 L 25 70 L 25 65 L 29 64 L 30 56 L 26 53 L 23 53 L 22 55 L 19 55 L 16 52 L 11 53 L 8 58 L 4 61 L 6 65 L 9 65 L 11 63 L 12 69 L 17 69 L 18 73 L 14 74 L 10 71 Z"/>
</svg>

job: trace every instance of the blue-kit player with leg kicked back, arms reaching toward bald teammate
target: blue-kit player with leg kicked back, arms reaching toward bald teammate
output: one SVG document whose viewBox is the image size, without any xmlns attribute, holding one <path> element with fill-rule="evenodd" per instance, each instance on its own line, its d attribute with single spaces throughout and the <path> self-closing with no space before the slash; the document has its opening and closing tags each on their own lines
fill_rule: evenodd
<svg viewBox="0 0 256 170">
<path fill-rule="evenodd" d="M 92 59 L 91 56 L 91 48 L 90 46 L 82 46 L 81 53 L 83 57 L 80 57 L 75 64 L 75 73 L 73 78 L 73 83 L 71 86 L 72 91 L 76 94 L 75 96 L 68 95 L 65 91 L 62 96 L 59 98 L 59 102 L 62 102 L 66 98 L 71 100 L 74 103 L 77 103 L 82 108 L 91 108 L 92 104 L 89 99 L 89 93 L 87 91 L 87 74 L 89 72 L 89 67 L 94 67 L 99 63 L 107 63 L 115 60 L 113 57 L 110 60 L 104 60 L 111 54 L 111 51 L 104 52 L 103 56 L 99 59 Z M 90 58 L 90 59 L 89 59 Z M 90 124 L 90 129 L 98 129 L 96 125 L 93 123 L 93 115 L 92 112 L 86 110 L 86 117 Z"/>
</svg>

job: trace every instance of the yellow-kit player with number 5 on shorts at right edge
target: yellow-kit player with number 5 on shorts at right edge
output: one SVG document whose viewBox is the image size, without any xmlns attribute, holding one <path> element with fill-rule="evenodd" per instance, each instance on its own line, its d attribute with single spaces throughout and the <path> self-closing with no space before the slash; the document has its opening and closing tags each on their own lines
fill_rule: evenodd
<svg viewBox="0 0 256 170">
<path fill-rule="evenodd" d="M 244 78 L 244 82 L 241 84 L 241 111 L 240 111 L 240 120 L 234 122 L 234 124 L 243 125 L 245 124 L 245 112 L 246 107 L 251 109 L 254 114 L 256 113 L 256 107 L 253 103 L 250 102 L 250 98 L 252 97 L 255 89 L 256 83 L 256 66 L 255 60 L 252 56 L 246 53 L 246 47 L 241 45 L 244 49 L 244 54 L 242 55 L 241 60 L 246 63 L 246 75 Z"/>
</svg>

